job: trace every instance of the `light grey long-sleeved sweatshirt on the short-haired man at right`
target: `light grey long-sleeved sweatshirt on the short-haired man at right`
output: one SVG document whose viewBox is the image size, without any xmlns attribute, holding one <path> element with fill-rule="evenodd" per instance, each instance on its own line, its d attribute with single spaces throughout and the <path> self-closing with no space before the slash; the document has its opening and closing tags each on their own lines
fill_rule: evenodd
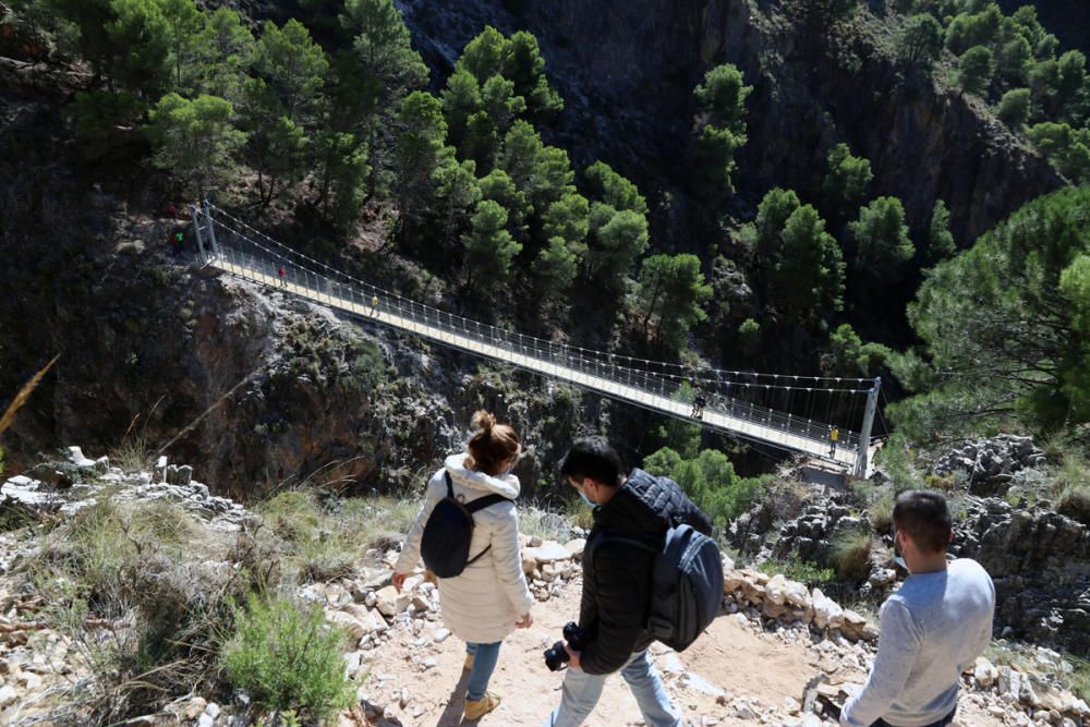
<svg viewBox="0 0 1090 727">
<path fill-rule="evenodd" d="M 909 575 L 882 605 L 874 668 L 840 724 L 923 727 L 953 712 L 961 673 L 992 638 L 994 610 L 995 586 L 976 560 Z"/>
</svg>

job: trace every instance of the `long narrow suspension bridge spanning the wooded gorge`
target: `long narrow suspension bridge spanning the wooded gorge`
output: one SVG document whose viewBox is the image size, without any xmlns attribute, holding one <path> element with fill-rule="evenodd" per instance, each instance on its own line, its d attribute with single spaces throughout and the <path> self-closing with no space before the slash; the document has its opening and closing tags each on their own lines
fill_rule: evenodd
<svg viewBox="0 0 1090 727">
<path fill-rule="evenodd" d="M 201 262 L 229 275 L 708 429 L 808 455 L 855 476 L 870 475 L 879 378 L 695 369 L 525 336 L 353 278 L 207 202 L 191 210 Z"/>
</svg>

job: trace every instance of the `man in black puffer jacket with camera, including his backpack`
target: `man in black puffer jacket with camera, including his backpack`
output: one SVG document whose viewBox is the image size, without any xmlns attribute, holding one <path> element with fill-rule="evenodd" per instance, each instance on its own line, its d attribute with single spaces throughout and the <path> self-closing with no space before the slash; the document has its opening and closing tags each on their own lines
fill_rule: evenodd
<svg viewBox="0 0 1090 727">
<path fill-rule="evenodd" d="M 707 537 L 712 523 L 673 480 L 640 469 L 626 475 L 620 457 L 602 437 L 578 439 L 560 465 L 560 475 L 594 508 L 594 526 L 583 552 L 577 641 L 582 649 L 573 649 L 570 640 L 564 644 L 568 669 L 560 705 L 542 727 L 581 725 L 597 703 L 606 677 L 618 670 L 645 724 L 681 727 L 681 713 L 666 695 L 647 646 L 658 639 L 680 651 L 718 613 L 723 565 L 715 542 Z M 704 587 L 697 589 L 699 605 L 664 596 L 676 589 L 664 587 L 663 577 L 679 575 L 675 546 L 686 555 L 694 553 L 690 562 L 705 571 Z"/>
</svg>

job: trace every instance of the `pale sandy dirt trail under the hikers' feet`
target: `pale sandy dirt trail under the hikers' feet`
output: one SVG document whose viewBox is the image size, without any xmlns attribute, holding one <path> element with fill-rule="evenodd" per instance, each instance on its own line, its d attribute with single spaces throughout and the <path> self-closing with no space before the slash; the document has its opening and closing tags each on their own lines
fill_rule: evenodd
<svg viewBox="0 0 1090 727">
<path fill-rule="evenodd" d="M 500 693 L 502 703 L 479 724 L 533 727 L 559 703 L 562 671 L 548 671 L 542 651 L 560 638 L 564 623 L 578 613 L 579 589 L 577 580 L 560 596 L 537 604 L 533 627 L 518 630 L 505 641 L 489 684 L 491 690 Z M 433 635 L 440 627 L 440 620 L 428 622 L 420 634 L 399 627 L 388 643 L 364 652 L 363 673 L 367 677 L 361 679 L 362 691 L 371 703 L 390 707 L 389 718 L 380 720 L 380 725 L 475 724 L 461 718 L 469 677 L 469 671 L 462 670 L 464 645 L 453 635 L 435 643 Z M 756 631 L 738 616 L 716 619 L 707 633 L 681 654 L 658 644 L 651 651 L 670 698 L 681 706 L 687 723 L 697 726 L 797 724 L 799 718 L 787 715 L 785 698 L 801 702 L 807 681 L 820 671 L 822 659 L 827 665 L 829 658 L 800 632 L 784 637 Z M 434 659 L 434 666 L 426 665 L 429 659 Z M 860 681 L 863 676 L 859 668 L 841 669 L 839 674 Z M 402 696 L 407 696 L 404 706 L 400 706 Z M 732 703 L 736 698 L 743 698 L 758 716 L 739 717 Z M 1003 724 L 965 698 L 958 723 L 981 727 Z M 643 724 L 635 700 L 619 675 L 609 678 L 584 724 Z"/>
</svg>

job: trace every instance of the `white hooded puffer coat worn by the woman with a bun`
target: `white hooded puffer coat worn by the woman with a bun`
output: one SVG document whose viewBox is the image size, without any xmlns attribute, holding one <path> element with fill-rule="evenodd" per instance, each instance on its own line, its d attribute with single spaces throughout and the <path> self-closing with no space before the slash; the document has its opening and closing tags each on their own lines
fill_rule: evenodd
<svg viewBox="0 0 1090 727">
<path fill-rule="evenodd" d="M 450 473 L 455 496 L 465 502 L 498 493 L 509 499 L 519 496 L 519 478 L 493 477 L 464 467 L 467 455 L 451 455 L 427 483 L 424 507 L 416 516 L 396 573 L 409 573 L 420 560 L 420 540 L 435 506 L 447 496 L 444 472 Z M 470 558 L 492 549 L 453 578 L 439 579 L 443 621 L 459 639 L 471 643 L 493 643 L 514 630 L 514 622 L 530 613 L 534 598 L 526 586 L 519 555 L 519 516 L 513 502 L 499 502 L 473 513 Z"/>
</svg>

